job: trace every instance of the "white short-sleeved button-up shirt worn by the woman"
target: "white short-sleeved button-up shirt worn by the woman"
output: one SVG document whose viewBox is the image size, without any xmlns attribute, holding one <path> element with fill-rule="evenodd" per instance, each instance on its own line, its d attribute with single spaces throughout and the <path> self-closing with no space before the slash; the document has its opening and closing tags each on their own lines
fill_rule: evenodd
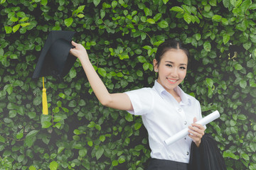
<svg viewBox="0 0 256 170">
<path fill-rule="evenodd" d="M 166 145 L 164 140 L 193 123 L 193 118 L 202 118 L 200 103 L 185 94 L 180 87 L 174 89 L 181 97 L 181 102 L 155 81 L 153 88 L 127 91 L 132 102 L 134 115 L 142 115 L 142 121 L 149 134 L 151 157 L 188 163 L 191 149 L 191 137 L 184 137 L 174 144 Z"/>
</svg>

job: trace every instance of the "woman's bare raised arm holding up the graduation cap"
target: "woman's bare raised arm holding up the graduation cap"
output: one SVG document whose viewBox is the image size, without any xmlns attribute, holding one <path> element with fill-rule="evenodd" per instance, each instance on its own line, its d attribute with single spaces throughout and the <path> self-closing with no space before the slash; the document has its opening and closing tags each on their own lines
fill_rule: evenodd
<svg viewBox="0 0 256 170">
<path fill-rule="evenodd" d="M 132 103 L 129 100 L 127 94 L 110 94 L 107 91 L 105 84 L 103 84 L 97 72 L 95 72 L 95 69 L 92 67 L 85 47 L 75 42 L 72 42 L 72 45 L 74 45 L 75 48 L 72 48 L 70 53 L 75 57 L 78 57 L 80 60 L 82 68 L 85 70 L 87 79 L 90 82 L 90 86 L 92 86 L 92 90 L 94 91 L 100 103 L 102 103 L 104 106 L 116 108 L 119 110 L 133 110 Z"/>
</svg>

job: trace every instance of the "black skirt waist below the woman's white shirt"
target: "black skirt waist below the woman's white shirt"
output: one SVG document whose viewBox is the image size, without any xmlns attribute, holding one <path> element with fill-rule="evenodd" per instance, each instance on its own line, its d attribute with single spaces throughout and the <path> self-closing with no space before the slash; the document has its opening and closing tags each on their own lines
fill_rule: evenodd
<svg viewBox="0 0 256 170">
<path fill-rule="evenodd" d="M 151 158 L 146 170 L 188 170 L 188 164 Z"/>
</svg>

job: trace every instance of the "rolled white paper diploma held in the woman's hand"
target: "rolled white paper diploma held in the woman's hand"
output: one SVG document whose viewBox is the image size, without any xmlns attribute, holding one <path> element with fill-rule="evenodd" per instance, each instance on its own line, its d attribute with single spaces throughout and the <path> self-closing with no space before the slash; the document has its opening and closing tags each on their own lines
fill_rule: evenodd
<svg viewBox="0 0 256 170">
<path fill-rule="evenodd" d="M 220 113 L 218 111 L 214 111 L 213 113 L 206 115 L 206 117 L 202 118 L 201 120 L 198 120 L 196 123 L 204 126 L 219 117 L 220 117 Z M 164 142 L 166 143 L 166 145 L 171 145 L 177 140 L 181 140 L 183 137 L 186 137 L 186 135 L 188 135 L 188 128 L 185 128 L 177 132 L 175 135 L 169 137 L 167 140 L 164 140 Z"/>
</svg>

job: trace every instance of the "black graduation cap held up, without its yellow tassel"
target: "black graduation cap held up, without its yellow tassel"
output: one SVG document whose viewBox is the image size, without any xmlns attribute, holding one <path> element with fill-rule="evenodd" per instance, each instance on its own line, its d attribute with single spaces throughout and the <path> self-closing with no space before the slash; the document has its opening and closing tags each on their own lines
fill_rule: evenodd
<svg viewBox="0 0 256 170">
<path fill-rule="evenodd" d="M 50 31 L 46 43 L 33 72 L 32 78 L 38 77 L 65 77 L 75 63 L 76 57 L 70 55 L 73 47 L 71 40 L 75 32 L 67 30 Z"/>
</svg>

